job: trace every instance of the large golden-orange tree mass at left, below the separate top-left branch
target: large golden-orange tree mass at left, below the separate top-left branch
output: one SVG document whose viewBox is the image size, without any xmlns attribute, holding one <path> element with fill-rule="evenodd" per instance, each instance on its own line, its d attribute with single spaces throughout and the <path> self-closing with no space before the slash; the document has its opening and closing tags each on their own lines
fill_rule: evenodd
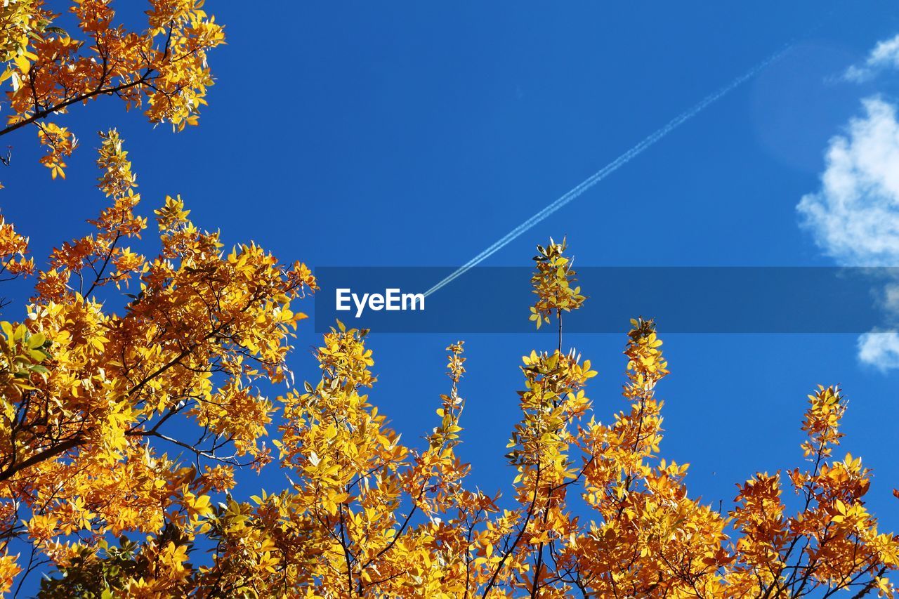
<svg viewBox="0 0 899 599">
<path fill-rule="evenodd" d="M 101 135 L 97 164 L 111 205 L 90 221 L 94 233 L 56 249 L 27 317 L 0 323 L 5 590 L 47 560 L 64 567 L 98 550 L 123 559 L 127 543 L 106 551 L 102 540 L 128 532 L 153 536 L 141 555 L 156 543 L 169 560 L 166 592 L 179 588 L 183 540 L 209 528 L 209 493 L 234 484 L 234 467 L 270 460 L 261 437 L 273 407 L 254 381 L 289 376 L 289 337 L 304 317 L 290 304 L 316 288 L 305 265 L 259 246 L 223 252 L 180 198 L 155 210 L 159 255 L 138 254 L 129 244 L 143 243 L 147 219 L 135 214 L 140 196 L 115 130 Z M 15 243 L 0 260 L 24 270 L 22 239 L 6 236 Z M 106 311 L 101 294 L 127 304 Z M 10 550 L 22 542 L 30 557 L 20 561 Z"/>
</svg>

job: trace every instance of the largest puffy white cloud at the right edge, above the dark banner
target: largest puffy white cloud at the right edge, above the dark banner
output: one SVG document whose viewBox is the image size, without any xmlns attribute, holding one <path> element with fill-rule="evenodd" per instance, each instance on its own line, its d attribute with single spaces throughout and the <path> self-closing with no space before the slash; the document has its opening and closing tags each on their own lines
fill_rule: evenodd
<svg viewBox="0 0 899 599">
<path fill-rule="evenodd" d="M 899 122 L 871 97 L 846 135 L 831 139 L 821 189 L 797 210 L 824 253 L 841 264 L 899 265 Z"/>
</svg>

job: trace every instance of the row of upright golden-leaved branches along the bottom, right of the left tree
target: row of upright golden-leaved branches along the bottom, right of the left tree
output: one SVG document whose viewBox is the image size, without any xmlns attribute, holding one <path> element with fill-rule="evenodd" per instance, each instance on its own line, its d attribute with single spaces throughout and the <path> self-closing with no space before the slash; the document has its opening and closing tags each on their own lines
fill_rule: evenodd
<svg viewBox="0 0 899 599">
<path fill-rule="evenodd" d="M 870 473 L 858 458 L 829 460 L 841 438 L 839 389 L 810 396 L 803 449 L 814 466 L 789 473 L 806 507 L 788 516 L 780 476 L 758 474 L 724 513 L 688 495 L 688 464 L 660 455 L 656 388 L 669 371 L 653 320 L 631 321 L 626 407 L 609 424 L 585 395 L 591 362 L 574 350 L 532 352 L 507 455 L 514 493 L 503 504 L 466 488 L 469 467 L 456 454 L 461 342 L 447 348 L 451 388 L 418 450 L 369 400 L 377 380 L 367 337 L 338 324 L 316 353 L 321 380 L 282 398 L 290 485 L 218 510 L 218 550 L 200 568 L 200 589 L 214 579 L 256 596 L 894 593 L 886 573 L 899 542 L 877 532 L 863 504 Z"/>
</svg>

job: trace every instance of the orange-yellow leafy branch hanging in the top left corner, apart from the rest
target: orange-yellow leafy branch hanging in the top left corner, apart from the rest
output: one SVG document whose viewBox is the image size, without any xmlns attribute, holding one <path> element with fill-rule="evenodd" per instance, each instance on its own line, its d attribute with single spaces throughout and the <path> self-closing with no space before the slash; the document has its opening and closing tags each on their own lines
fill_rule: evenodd
<svg viewBox="0 0 899 599">
<path fill-rule="evenodd" d="M 28 125 L 47 154 L 40 162 L 65 177 L 77 146 L 72 131 L 49 121 L 69 107 L 116 96 L 126 110 L 145 107 L 153 123 L 195 125 L 212 85 L 207 52 L 225 42 L 203 0 L 149 0 L 147 30 L 114 25 L 111 0 L 75 0 L 68 12 L 76 37 L 55 23 L 45 0 L 0 4 L 0 82 L 8 81 L 7 120 L 0 137 Z M 9 164 L 11 153 L 2 158 Z"/>
</svg>

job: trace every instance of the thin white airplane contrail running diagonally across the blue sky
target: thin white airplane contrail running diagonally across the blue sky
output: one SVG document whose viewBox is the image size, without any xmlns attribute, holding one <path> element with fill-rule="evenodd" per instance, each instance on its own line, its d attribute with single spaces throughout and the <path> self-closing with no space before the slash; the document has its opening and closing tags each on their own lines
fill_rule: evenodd
<svg viewBox="0 0 899 599">
<path fill-rule="evenodd" d="M 705 98 L 699 101 L 699 103 L 695 104 L 692 108 L 685 112 L 681 112 L 678 116 L 674 117 L 671 121 L 668 121 L 666 125 L 664 125 L 661 129 L 654 131 L 645 139 L 640 141 L 636 146 L 630 148 L 627 152 L 622 154 L 621 156 L 615 158 L 608 165 L 603 166 L 600 170 L 596 171 L 589 177 L 583 180 L 583 182 L 578 183 L 573 189 L 569 192 L 566 192 L 565 195 L 560 197 L 558 200 L 547 205 L 546 208 L 540 210 L 537 214 L 530 217 L 530 219 L 525 220 L 516 228 L 513 228 L 509 231 L 505 236 L 500 237 L 492 246 L 487 247 L 483 252 L 476 255 L 474 258 L 469 260 L 466 264 L 460 266 L 453 273 L 450 273 L 445 279 L 441 282 L 434 285 L 431 289 L 424 292 L 425 297 L 431 295 L 434 291 L 439 291 L 441 288 L 449 285 L 450 282 L 455 281 L 458 277 L 467 273 L 469 269 L 475 267 L 477 264 L 481 264 L 488 257 L 494 255 L 499 250 L 503 249 L 503 247 L 507 246 L 513 239 L 519 237 L 522 233 L 530 229 L 531 227 L 537 225 L 541 220 L 546 219 L 549 215 L 551 215 L 556 210 L 559 210 L 569 201 L 575 200 L 578 196 L 580 196 L 583 192 L 589 190 L 596 183 L 600 183 L 603 179 L 605 179 L 610 174 L 617 171 L 621 166 L 628 164 L 631 160 L 643 154 L 645 150 L 654 146 L 654 144 L 671 133 L 673 130 L 680 127 L 683 123 L 690 121 L 693 117 L 695 117 L 699 112 L 704 111 L 708 106 L 712 103 L 716 103 L 726 94 L 732 92 L 736 87 L 743 84 L 749 79 L 752 79 L 753 76 L 758 75 L 764 70 L 766 67 L 769 67 L 771 63 L 776 62 L 779 58 L 782 58 L 785 54 L 792 49 L 792 45 L 787 46 L 784 49 L 775 52 L 770 57 L 765 58 L 755 67 L 752 67 L 743 75 L 736 77 L 729 84 L 721 87 L 712 94 L 708 94 Z"/>
</svg>

